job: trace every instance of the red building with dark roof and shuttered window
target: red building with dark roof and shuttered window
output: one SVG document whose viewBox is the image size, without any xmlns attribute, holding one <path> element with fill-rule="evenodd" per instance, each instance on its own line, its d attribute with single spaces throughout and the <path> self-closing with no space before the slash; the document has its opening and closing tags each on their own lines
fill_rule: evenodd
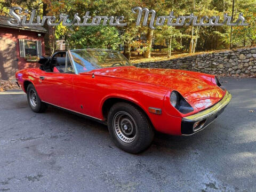
<svg viewBox="0 0 256 192">
<path fill-rule="evenodd" d="M 9 17 L 0 16 L 0 79 L 13 79 L 15 71 L 38 67 L 37 57 L 45 54 L 44 35 L 40 26 L 11 27 Z"/>
</svg>

